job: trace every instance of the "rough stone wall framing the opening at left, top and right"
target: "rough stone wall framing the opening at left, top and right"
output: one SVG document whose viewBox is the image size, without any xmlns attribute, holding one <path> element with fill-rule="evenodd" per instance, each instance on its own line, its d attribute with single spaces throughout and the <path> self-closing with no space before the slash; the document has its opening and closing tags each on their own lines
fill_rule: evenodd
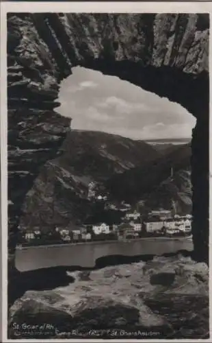
<svg viewBox="0 0 212 343">
<path fill-rule="evenodd" d="M 202 251 L 208 244 L 208 140 L 202 130 L 209 118 L 208 56 L 207 14 L 9 14 L 10 233 L 16 232 L 40 166 L 58 153 L 69 130 L 69 119 L 53 108 L 59 82 L 81 65 L 168 97 L 198 119 L 192 143 L 193 235 L 198 259 L 207 259 Z M 11 247 L 14 243 L 11 235 Z"/>
</svg>

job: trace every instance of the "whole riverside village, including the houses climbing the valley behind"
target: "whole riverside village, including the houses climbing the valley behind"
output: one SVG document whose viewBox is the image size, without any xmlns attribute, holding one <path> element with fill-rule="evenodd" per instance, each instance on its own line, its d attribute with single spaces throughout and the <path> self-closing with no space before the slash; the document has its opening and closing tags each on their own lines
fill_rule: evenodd
<svg viewBox="0 0 212 343">
<path fill-rule="evenodd" d="M 171 168 L 171 177 L 173 168 Z M 134 206 L 125 202 L 111 201 L 108 193 L 98 191 L 95 182 L 88 186 L 88 199 L 101 205 L 105 213 L 119 213 L 118 217 L 107 216 L 98 222 L 92 218 L 81 225 L 54 225 L 47 229 L 42 226 L 19 227 L 19 245 L 64 244 L 88 241 L 126 241 L 142 237 L 183 237 L 191 235 L 190 214 L 180 215 L 172 201 L 172 210 L 154 209 L 146 211 L 144 201 Z M 54 212 L 54 204 L 53 204 Z M 99 216 L 98 216 L 99 217 Z M 101 217 L 101 216 L 100 216 Z"/>
</svg>

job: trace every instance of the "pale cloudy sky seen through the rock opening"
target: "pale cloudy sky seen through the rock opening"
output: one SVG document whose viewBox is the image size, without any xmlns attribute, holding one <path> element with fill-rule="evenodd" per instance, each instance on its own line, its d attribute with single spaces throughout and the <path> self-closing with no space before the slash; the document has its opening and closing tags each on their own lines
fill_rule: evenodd
<svg viewBox="0 0 212 343">
<path fill-rule="evenodd" d="M 57 112 L 71 128 L 131 139 L 190 138 L 196 119 L 185 108 L 116 76 L 75 67 L 62 81 Z"/>
</svg>

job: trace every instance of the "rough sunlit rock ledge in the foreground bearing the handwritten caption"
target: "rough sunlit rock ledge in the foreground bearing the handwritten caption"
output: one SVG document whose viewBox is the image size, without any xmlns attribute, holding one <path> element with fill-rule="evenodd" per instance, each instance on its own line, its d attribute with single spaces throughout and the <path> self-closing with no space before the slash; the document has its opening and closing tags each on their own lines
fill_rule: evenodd
<svg viewBox="0 0 212 343">
<path fill-rule="evenodd" d="M 107 338 L 126 338 L 127 332 L 137 337 L 144 331 L 157 338 L 209 337 L 205 263 L 182 256 L 155 257 L 67 273 L 75 279 L 67 287 L 28 290 L 15 301 L 9 312 L 10 338 L 76 338 L 100 330 Z"/>
</svg>

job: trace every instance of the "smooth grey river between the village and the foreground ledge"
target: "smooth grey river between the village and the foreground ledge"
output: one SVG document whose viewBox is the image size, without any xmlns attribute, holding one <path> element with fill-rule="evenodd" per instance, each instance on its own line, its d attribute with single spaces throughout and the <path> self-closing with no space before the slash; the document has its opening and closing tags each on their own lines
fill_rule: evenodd
<svg viewBox="0 0 212 343">
<path fill-rule="evenodd" d="M 94 268 L 105 257 L 141 257 L 164 255 L 180 250 L 193 250 L 192 240 L 178 238 L 141 238 L 131 241 L 92 241 L 88 243 L 31 246 L 16 250 L 16 268 L 19 272 L 75 266 Z"/>
</svg>

